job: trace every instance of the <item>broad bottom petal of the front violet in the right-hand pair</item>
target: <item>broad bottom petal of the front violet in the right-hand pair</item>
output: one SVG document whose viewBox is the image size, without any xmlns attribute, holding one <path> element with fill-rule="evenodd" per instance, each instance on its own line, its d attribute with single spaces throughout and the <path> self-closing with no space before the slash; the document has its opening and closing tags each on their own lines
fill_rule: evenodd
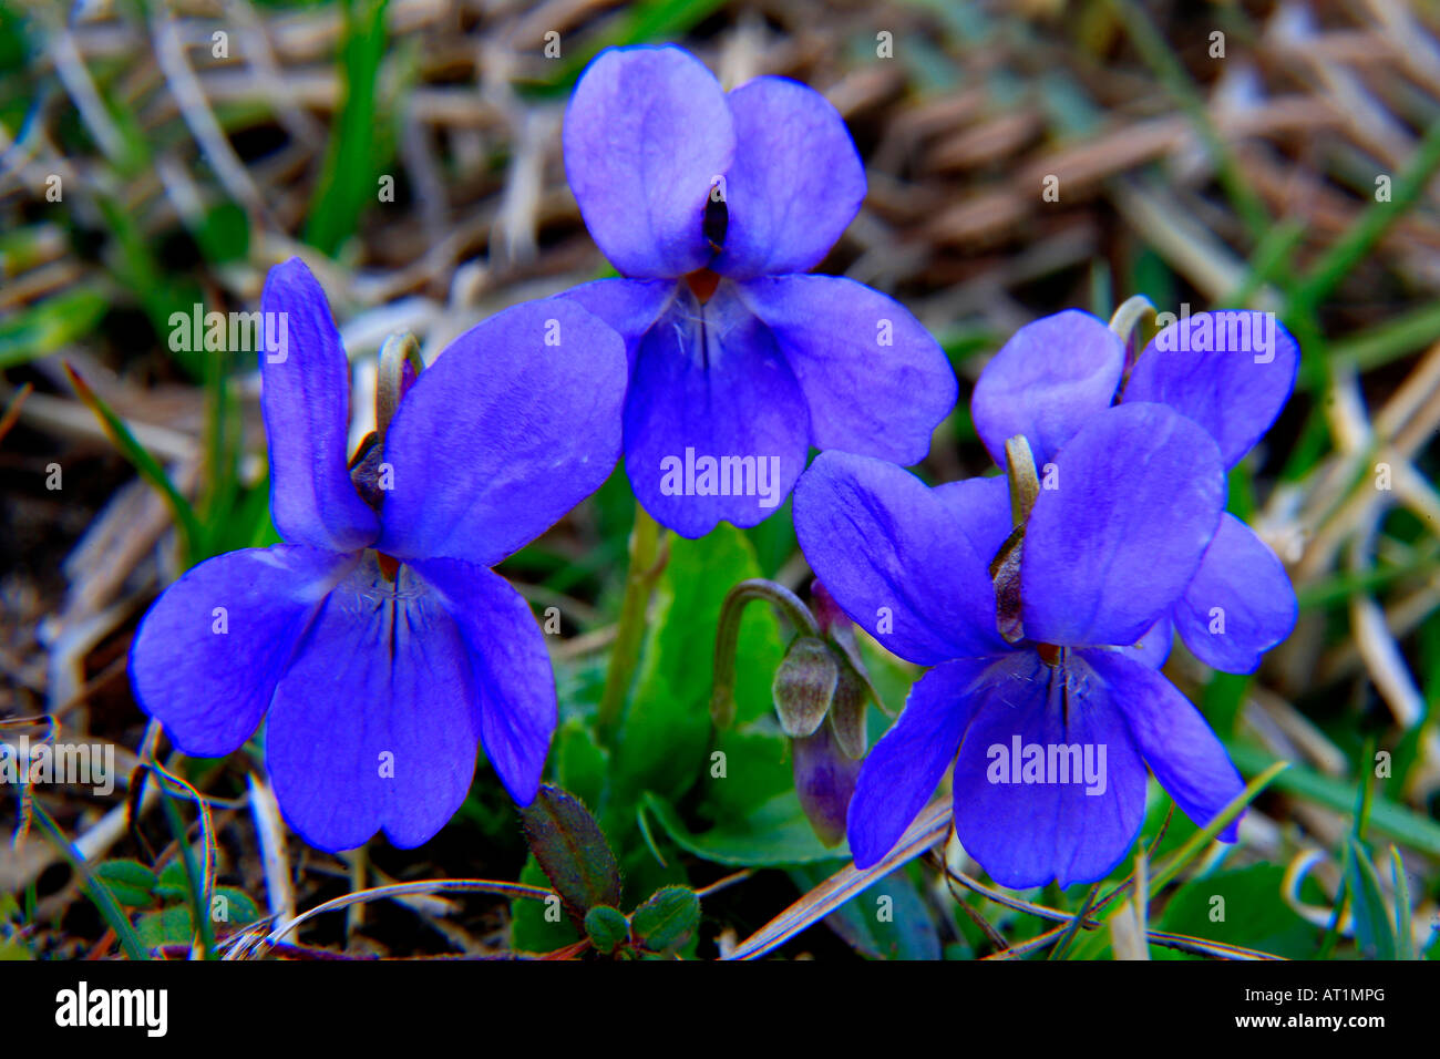
<svg viewBox="0 0 1440 1059">
<path fill-rule="evenodd" d="M 1145 765 L 1109 689 L 1034 651 L 986 677 L 955 761 L 956 837 L 1002 886 L 1106 877 L 1145 821 Z"/>
</svg>

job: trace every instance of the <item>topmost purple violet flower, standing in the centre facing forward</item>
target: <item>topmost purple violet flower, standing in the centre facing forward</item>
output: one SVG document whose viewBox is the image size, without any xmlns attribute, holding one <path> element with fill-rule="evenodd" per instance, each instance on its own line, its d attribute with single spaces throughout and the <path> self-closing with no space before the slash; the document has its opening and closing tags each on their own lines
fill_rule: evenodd
<svg viewBox="0 0 1440 1059">
<path fill-rule="evenodd" d="M 570 98 L 564 167 L 625 277 L 564 297 L 625 337 L 625 470 L 658 522 L 755 526 L 811 445 L 926 455 L 958 395 L 939 343 L 884 294 L 805 275 L 865 197 L 819 92 L 776 76 L 726 92 L 680 48 L 609 49 Z"/>
</svg>

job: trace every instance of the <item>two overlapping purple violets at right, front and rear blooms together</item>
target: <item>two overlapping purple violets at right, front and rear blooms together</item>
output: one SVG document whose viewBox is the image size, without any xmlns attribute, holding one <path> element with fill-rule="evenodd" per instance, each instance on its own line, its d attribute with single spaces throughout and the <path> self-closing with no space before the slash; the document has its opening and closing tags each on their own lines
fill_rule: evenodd
<svg viewBox="0 0 1440 1059">
<path fill-rule="evenodd" d="M 1156 670 L 1172 627 L 1250 671 L 1295 622 L 1279 560 L 1223 509 L 1224 471 L 1279 414 L 1299 353 L 1276 329 L 1254 357 L 1211 316 L 1225 317 L 1156 336 L 1123 392 L 1125 349 L 1084 313 L 1005 344 L 972 412 L 998 463 L 1020 437 L 1044 471 L 1018 526 L 1004 477 L 929 488 L 842 452 L 805 473 L 795 529 L 811 568 L 881 644 L 935 667 L 861 769 L 857 864 L 890 850 L 952 762 L 956 834 L 1008 886 L 1104 877 L 1143 821 L 1146 764 L 1200 826 L 1240 792 Z M 1218 339 L 1178 339 L 1202 320 Z"/>
</svg>

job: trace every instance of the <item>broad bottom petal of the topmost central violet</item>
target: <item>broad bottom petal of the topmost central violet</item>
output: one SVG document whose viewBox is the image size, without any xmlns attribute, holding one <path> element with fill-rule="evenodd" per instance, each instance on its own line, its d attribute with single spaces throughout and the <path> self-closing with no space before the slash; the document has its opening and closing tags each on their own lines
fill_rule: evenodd
<svg viewBox="0 0 1440 1059">
<path fill-rule="evenodd" d="M 809 448 L 795 376 L 733 290 L 703 307 L 681 291 L 641 340 L 625 399 L 635 499 L 685 537 L 773 514 Z"/>
</svg>

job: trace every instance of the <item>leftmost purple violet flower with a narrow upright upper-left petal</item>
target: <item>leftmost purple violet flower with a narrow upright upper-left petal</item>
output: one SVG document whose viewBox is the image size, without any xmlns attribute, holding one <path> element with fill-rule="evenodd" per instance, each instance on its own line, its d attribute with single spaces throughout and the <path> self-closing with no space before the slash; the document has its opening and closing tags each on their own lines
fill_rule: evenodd
<svg viewBox="0 0 1440 1059">
<path fill-rule="evenodd" d="M 271 269 L 262 313 L 287 339 L 266 343 L 261 370 L 271 511 L 289 543 L 215 556 L 156 601 L 130 654 L 137 700 L 202 758 L 238 749 L 268 713 L 281 810 L 324 850 L 379 828 L 426 841 L 464 801 L 477 741 L 530 803 L 554 674 L 530 607 L 490 568 L 615 465 L 619 337 L 573 304 L 500 313 L 415 379 L 353 480 L 348 366 L 324 291 L 291 259 Z"/>
</svg>

